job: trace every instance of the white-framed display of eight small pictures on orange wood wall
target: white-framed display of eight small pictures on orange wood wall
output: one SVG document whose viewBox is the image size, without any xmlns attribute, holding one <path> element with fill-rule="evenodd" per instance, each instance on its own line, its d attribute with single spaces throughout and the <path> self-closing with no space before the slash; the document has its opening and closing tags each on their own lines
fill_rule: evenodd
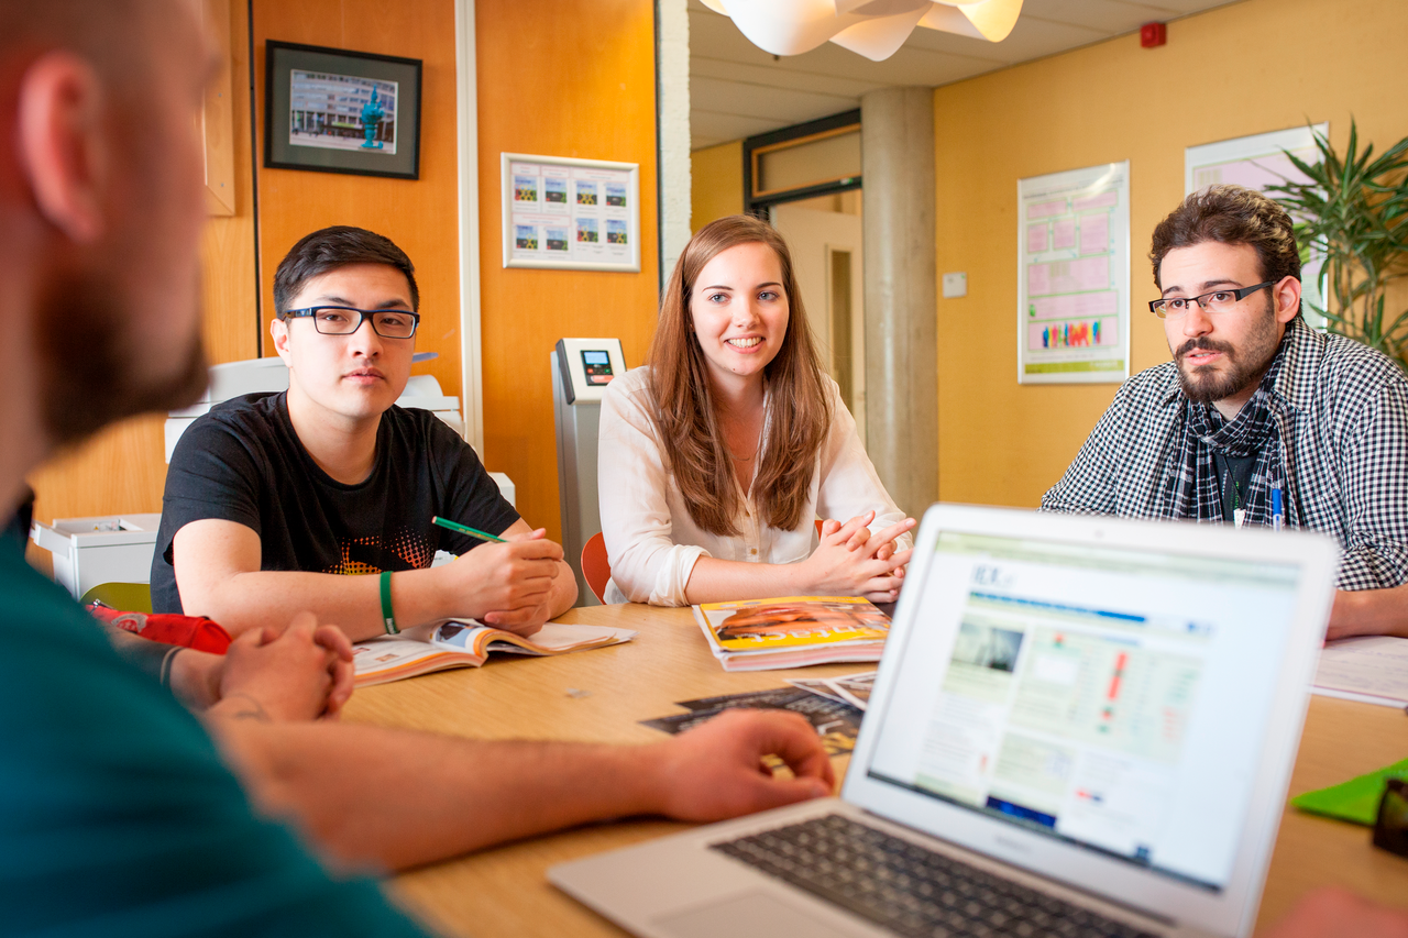
<svg viewBox="0 0 1408 938">
<path fill-rule="evenodd" d="M 503 154 L 505 268 L 641 269 L 636 163 Z"/>
</svg>

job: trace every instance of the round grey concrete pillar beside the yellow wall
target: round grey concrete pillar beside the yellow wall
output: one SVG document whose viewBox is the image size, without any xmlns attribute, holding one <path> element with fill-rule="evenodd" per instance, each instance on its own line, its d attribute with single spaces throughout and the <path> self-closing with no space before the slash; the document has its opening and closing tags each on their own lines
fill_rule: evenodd
<svg viewBox="0 0 1408 938">
<path fill-rule="evenodd" d="M 860 97 L 865 179 L 866 449 L 890 496 L 938 499 L 934 89 Z"/>
</svg>

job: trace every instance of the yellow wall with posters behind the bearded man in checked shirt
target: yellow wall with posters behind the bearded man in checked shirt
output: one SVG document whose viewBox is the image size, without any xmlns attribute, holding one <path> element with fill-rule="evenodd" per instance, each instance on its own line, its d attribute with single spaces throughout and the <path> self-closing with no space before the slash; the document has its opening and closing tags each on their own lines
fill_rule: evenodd
<svg viewBox="0 0 1408 938">
<path fill-rule="evenodd" d="M 1131 163 L 1132 370 L 1167 361 L 1143 261 L 1183 197 L 1186 146 L 1350 114 L 1378 144 L 1408 135 L 1401 0 L 1246 0 L 1138 35 L 941 87 L 934 96 L 939 272 L 969 296 L 938 301 L 939 496 L 1035 506 L 1117 384 L 1017 384 L 1017 180 Z"/>
</svg>

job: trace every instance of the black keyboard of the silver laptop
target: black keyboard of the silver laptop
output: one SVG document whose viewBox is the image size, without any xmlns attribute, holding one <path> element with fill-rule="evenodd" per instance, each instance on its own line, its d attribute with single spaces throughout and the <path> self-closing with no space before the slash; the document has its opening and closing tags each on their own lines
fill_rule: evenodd
<svg viewBox="0 0 1408 938">
<path fill-rule="evenodd" d="M 901 935 L 1155 938 L 839 814 L 712 849 Z"/>
</svg>

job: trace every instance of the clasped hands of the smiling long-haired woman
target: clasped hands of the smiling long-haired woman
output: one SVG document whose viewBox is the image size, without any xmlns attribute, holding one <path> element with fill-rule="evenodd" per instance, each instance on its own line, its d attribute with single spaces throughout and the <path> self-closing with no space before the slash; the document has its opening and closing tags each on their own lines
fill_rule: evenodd
<svg viewBox="0 0 1408 938">
<path fill-rule="evenodd" d="M 866 527 L 876 513 L 857 514 L 845 524 L 821 525 L 821 545 L 803 561 L 808 589 L 824 596 L 865 596 L 872 603 L 893 603 L 900 596 L 910 549 L 895 551 L 895 538 L 911 531 L 914 518 L 881 531 Z"/>
</svg>

